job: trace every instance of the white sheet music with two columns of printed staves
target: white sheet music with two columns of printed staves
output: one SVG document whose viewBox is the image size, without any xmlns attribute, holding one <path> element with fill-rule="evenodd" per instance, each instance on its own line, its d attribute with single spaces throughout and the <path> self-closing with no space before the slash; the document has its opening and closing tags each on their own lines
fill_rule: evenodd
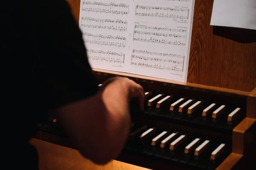
<svg viewBox="0 0 256 170">
<path fill-rule="evenodd" d="M 92 68 L 186 82 L 194 0 L 81 0 Z"/>
</svg>

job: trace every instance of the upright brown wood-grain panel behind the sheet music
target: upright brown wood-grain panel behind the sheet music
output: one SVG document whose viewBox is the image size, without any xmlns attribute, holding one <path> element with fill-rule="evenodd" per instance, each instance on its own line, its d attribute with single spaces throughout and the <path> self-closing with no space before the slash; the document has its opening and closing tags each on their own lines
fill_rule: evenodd
<svg viewBox="0 0 256 170">
<path fill-rule="evenodd" d="M 80 0 L 67 2 L 78 23 Z M 187 82 L 252 91 L 256 87 L 256 42 L 240 43 L 214 35 L 214 26 L 210 26 L 212 6 L 213 0 L 195 0 Z M 235 33 L 229 38 L 237 37 Z"/>
</svg>

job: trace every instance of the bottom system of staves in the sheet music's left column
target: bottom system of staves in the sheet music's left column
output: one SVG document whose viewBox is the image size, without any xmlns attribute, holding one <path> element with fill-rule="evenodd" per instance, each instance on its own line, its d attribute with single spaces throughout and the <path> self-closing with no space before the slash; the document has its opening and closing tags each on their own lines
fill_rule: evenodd
<svg viewBox="0 0 256 170">
<path fill-rule="evenodd" d="M 125 54 L 113 51 L 87 49 L 88 59 L 99 62 L 124 63 Z"/>
</svg>

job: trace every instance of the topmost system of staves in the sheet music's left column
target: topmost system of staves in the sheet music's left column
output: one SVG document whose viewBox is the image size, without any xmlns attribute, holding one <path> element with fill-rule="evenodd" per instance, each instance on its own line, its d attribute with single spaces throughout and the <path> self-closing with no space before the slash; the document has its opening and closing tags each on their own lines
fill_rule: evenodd
<svg viewBox="0 0 256 170">
<path fill-rule="evenodd" d="M 105 14 L 122 14 L 128 15 L 129 5 L 120 3 L 101 3 L 84 1 L 82 3 L 82 11 L 105 13 Z"/>
</svg>

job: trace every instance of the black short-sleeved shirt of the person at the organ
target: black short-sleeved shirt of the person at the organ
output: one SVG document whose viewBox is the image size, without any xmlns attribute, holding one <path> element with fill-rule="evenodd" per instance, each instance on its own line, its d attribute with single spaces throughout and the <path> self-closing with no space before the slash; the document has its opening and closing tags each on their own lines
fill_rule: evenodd
<svg viewBox="0 0 256 170">
<path fill-rule="evenodd" d="M 4 108 L 12 118 L 8 158 L 20 168 L 35 168 L 37 153 L 29 140 L 38 119 L 95 94 L 98 85 L 65 0 L 3 0 L 0 6 Z"/>
</svg>

